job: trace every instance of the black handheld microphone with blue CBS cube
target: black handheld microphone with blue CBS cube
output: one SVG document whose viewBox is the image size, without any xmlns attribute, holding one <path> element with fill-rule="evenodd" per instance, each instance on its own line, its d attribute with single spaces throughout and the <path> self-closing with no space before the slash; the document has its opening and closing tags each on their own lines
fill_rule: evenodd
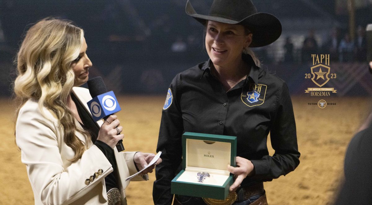
<svg viewBox="0 0 372 205">
<path fill-rule="evenodd" d="M 107 92 L 106 85 L 100 76 L 90 79 L 88 81 L 88 88 L 93 99 L 87 102 L 87 104 L 94 121 L 102 118 L 107 120 L 110 115 L 121 110 L 114 92 Z M 119 152 L 124 151 L 122 139 L 116 144 L 116 149 Z"/>
</svg>

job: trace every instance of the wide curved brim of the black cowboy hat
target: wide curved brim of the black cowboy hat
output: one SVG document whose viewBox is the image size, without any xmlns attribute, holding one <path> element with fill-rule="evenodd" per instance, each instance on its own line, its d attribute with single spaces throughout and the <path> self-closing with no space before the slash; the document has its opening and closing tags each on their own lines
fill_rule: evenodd
<svg viewBox="0 0 372 205">
<path fill-rule="evenodd" d="M 186 3 L 186 13 L 198 22 L 206 25 L 207 21 L 243 25 L 253 36 L 249 47 L 262 47 L 276 41 L 282 34 L 282 24 L 279 19 L 269 13 L 255 13 L 241 21 L 235 21 L 225 16 L 201 15 L 195 12 L 190 1 Z"/>
</svg>

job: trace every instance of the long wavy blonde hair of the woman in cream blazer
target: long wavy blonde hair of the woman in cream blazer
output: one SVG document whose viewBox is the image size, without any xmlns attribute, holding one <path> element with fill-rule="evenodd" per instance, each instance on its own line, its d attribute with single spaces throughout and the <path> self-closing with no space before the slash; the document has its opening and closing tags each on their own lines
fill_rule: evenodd
<svg viewBox="0 0 372 205">
<path fill-rule="evenodd" d="M 75 131 L 88 138 L 89 133 L 78 129 L 73 113 L 67 106 L 75 75 L 72 62 L 78 57 L 84 31 L 71 21 L 45 18 L 27 31 L 17 54 L 17 78 L 14 92 L 20 108 L 29 99 L 38 101 L 42 114 L 47 108 L 59 120 L 64 130 L 64 141 L 74 152 L 77 161 L 88 148 Z"/>
</svg>

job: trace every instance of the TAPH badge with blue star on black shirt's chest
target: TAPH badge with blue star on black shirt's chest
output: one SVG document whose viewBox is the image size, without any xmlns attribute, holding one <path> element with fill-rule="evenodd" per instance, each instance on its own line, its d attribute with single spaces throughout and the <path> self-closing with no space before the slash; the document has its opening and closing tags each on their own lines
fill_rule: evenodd
<svg viewBox="0 0 372 205">
<path fill-rule="evenodd" d="M 248 83 L 241 92 L 241 101 L 249 107 L 262 105 L 265 102 L 267 85 Z"/>
</svg>

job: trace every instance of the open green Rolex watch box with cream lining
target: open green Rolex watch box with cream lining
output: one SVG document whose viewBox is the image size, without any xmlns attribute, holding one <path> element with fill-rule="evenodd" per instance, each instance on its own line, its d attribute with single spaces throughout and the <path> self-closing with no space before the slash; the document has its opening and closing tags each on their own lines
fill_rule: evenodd
<svg viewBox="0 0 372 205">
<path fill-rule="evenodd" d="M 182 170 L 171 181 L 171 193 L 226 199 L 233 183 L 227 165 L 236 167 L 236 144 L 233 136 L 185 132 Z"/>
</svg>

